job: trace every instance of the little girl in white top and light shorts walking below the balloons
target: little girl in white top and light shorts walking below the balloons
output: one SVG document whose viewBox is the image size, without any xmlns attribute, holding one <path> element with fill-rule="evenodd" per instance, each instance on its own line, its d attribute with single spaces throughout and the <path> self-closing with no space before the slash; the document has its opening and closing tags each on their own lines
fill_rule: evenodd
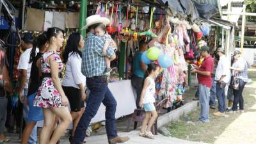
<svg viewBox="0 0 256 144">
<path fill-rule="evenodd" d="M 157 112 L 154 106 L 154 102 L 155 102 L 154 95 L 156 93 L 155 79 L 158 76 L 159 71 L 160 71 L 160 68 L 156 63 L 151 63 L 150 65 L 148 65 L 147 72 L 149 76 L 144 81 L 144 86 L 141 92 L 141 99 L 140 99 L 140 107 L 145 110 L 146 115 L 143 120 L 139 135 L 146 138 L 151 138 L 151 139 L 154 139 L 154 135 L 150 130 L 157 118 Z M 146 125 L 147 125 L 147 129 L 146 129 Z"/>
</svg>

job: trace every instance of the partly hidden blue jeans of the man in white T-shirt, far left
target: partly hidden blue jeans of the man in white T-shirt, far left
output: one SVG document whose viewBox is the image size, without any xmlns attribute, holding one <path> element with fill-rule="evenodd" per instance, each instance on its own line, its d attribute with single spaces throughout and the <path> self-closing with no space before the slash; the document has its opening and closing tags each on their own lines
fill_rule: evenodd
<svg viewBox="0 0 256 144">
<path fill-rule="evenodd" d="M 25 97 L 25 99 L 27 99 L 27 95 L 28 95 L 28 89 L 25 88 L 23 95 Z M 28 123 L 28 111 L 29 111 L 29 106 L 27 104 L 23 104 L 23 117 L 26 120 L 26 123 Z M 36 144 L 37 142 L 37 124 L 35 125 L 35 127 L 33 128 L 29 140 L 28 140 L 28 144 Z"/>
</svg>

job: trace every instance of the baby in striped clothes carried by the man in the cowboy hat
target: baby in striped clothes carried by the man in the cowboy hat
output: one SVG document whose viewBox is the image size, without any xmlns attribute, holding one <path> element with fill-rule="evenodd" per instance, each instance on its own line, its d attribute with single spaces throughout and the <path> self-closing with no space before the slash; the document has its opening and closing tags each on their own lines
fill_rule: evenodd
<svg viewBox="0 0 256 144">
<path fill-rule="evenodd" d="M 106 62 L 106 70 L 104 72 L 105 75 L 108 75 L 112 69 L 110 67 L 111 60 L 106 56 L 108 47 L 111 47 L 114 51 L 116 51 L 116 45 L 114 40 L 111 38 L 111 36 L 106 31 L 106 26 L 104 24 L 100 24 L 100 26 L 97 27 L 97 31 L 95 31 L 95 35 L 102 36 L 104 39 L 104 47 L 102 49 L 102 54 L 104 56 L 104 60 Z"/>
</svg>

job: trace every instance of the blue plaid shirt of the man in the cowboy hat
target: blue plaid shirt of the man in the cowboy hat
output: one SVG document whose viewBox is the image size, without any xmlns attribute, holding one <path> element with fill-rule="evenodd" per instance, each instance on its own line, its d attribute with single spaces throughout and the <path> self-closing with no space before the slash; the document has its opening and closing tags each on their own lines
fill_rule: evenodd
<svg viewBox="0 0 256 144">
<path fill-rule="evenodd" d="M 85 40 L 82 52 L 82 74 L 86 77 L 102 76 L 106 63 L 102 55 L 104 40 L 100 36 L 89 34 Z M 108 47 L 106 56 L 111 57 L 115 54 L 113 49 Z"/>
</svg>

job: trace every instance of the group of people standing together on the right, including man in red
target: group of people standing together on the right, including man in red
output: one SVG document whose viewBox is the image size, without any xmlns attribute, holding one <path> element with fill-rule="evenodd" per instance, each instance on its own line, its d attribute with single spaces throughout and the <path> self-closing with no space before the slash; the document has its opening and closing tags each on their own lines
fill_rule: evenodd
<svg viewBox="0 0 256 144">
<path fill-rule="evenodd" d="M 216 109 L 215 97 L 218 99 L 218 109 L 215 116 L 225 116 L 225 113 L 244 112 L 243 89 L 248 79 L 248 64 L 240 51 L 232 53 L 231 61 L 225 56 L 225 50 L 218 48 L 212 56 L 207 46 L 200 49 L 204 61 L 200 67 L 192 65 L 191 72 L 197 74 L 198 90 L 193 100 L 199 100 L 201 106 L 200 123 L 208 123 L 209 108 Z M 228 107 L 226 108 L 226 96 Z M 238 109 L 239 108 L 239 109 Z"/>
</svg>

